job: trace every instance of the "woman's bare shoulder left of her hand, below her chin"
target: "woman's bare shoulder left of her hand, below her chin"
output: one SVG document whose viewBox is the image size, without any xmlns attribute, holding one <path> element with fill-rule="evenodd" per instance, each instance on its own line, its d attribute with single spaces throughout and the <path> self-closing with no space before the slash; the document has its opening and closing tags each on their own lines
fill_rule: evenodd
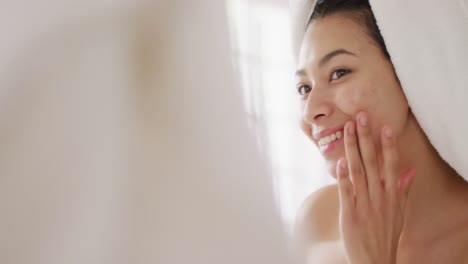
<svg viewBox="0 0 468 264">
<path fill-rule="evenodd" d="M 339 240 L 338 185 L 325 186 L 307 197 L 298 211 L 295 234 L 302 243 Z"/>
</svg>

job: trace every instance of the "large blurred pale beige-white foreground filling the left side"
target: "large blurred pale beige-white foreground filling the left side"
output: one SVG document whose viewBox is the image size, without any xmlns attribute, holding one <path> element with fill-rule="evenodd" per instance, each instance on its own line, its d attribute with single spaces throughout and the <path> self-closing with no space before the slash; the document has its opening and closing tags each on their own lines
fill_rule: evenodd
<svg viewBox="0 0 468 264">
<path fill-rule="evenodd" d="M 292 263 L 225 2 L 7 2 L 0 263 Z"/>
</svg>

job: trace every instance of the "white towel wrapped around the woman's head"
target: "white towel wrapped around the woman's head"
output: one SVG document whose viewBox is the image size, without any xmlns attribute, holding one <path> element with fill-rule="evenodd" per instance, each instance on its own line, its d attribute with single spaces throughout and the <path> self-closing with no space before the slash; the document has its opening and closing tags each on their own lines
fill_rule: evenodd
<svg viewBox="0 0 468 264">
<path fill-rule="evenodd" d="M 468 180 L 468 0 L 371 0 L 396 73 L 424 132 Z M 314 0 L 291 2 L 297 58 Z"/>
</svg>

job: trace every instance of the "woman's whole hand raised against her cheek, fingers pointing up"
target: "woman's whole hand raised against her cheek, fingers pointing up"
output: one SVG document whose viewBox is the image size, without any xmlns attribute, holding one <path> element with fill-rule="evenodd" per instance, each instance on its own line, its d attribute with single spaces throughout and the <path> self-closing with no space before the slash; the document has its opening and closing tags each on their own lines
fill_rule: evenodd
<svg viewBox="0 0 468 264">
<path fill-rule="evenodd" d="M 381 131 L 383 165 L 379 169 L 367 114 L 360 112 L 356 119 L 357 124 L 345 125 L 347 159 L 337 165 L 340 232 L 346 255 L 350 264 L 395 264 L 416 171 L 400 176 L 396 140 L 389 126 Z"/>
</svg>

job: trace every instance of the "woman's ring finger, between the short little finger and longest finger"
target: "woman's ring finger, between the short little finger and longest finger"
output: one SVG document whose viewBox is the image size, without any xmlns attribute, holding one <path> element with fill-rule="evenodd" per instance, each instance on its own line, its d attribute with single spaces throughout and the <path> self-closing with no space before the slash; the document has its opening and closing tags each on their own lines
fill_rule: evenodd
<svg viewBox="0 0 468 264">
<path fill-rule="evenodd" d="M 367 179 L 364 167 L 359 154 L 359 145 L 356 137 L 356 127 L 354 121 L 345 125 L 345 152 L 348 158 L 349 173 L 356 193 L 356 203 L 369 199 L 367 189 Z"/>
</svg>

